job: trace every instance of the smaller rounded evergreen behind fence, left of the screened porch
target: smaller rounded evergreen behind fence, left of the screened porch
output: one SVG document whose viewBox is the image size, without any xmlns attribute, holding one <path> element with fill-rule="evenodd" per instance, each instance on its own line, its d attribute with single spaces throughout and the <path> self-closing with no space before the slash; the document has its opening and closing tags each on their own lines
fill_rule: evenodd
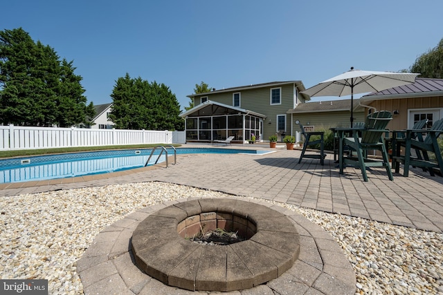
<svg viewBox="0 0 443 295">
<path fill-rule="evenodd" d="M 183 130 L 179 102 L 165 84 L 126 73 L 117 79 L 111 97 L 109 118 L 117 129 Z"/>
</svg>

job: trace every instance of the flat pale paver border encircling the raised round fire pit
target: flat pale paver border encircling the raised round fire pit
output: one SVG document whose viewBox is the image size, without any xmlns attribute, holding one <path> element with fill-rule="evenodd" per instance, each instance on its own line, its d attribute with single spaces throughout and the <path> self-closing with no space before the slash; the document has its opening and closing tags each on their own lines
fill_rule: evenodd
<svg viewBox="0 0 443 295">
<path fill-rule="evenodd" d="M 77 262 L 84 294 L 194 294 L 164 285 L 136 267 L 130 240 L 138 225 L 154 212 L 180 202 L 200 199 L 186 198 L 145 207 L 103 229 Z M 272 202 L 241 197 L 222 200 L 242 200 L 278 211 L 287 216 L 300 235 L 298 260 L 287 272 L 266 284 L 235 292 L 257 295 L 273 290 L 278 294 L 355 293 L 356 276 L 351 263 L 334 238 L 320 226 Z"/>
</svg>

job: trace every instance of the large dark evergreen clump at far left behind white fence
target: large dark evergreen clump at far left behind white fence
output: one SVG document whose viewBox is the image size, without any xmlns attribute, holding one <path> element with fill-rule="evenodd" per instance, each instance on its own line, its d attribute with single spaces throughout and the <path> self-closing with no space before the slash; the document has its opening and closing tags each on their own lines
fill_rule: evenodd
<svg viewBox="0 0 443 295">
<path fill-rule="evenodd" d="M 0 123 L 28 126 L 73 126 L 88 123 L 82 77 L 72 61 L 35 43 L 22 28 L 0 31 Z"/>
</svg>

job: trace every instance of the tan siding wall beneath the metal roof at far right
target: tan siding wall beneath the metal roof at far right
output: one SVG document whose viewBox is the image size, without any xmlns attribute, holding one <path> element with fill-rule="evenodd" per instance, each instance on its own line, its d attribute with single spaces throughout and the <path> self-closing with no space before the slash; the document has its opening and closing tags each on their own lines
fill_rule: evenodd
<svg viewBox="0 0 443 295">
<path fill-rule="evenodd" d="M 401 98 L 401 99 L 382 99 L 375 100 L 370 106 L 374 106 L 378 111 L 399 111 L 398 115 L 392 116 L 392 121 L 388 124 L 387 128 L 390 130 L 399 130 L 410 128 L 413 122 L 410 122 L 408 114 L 410 110 L 438 110 L 440 109 L 440 117 L 443 118 L 443 97 L 414 97 L 414 98 Z"/>
</svg>

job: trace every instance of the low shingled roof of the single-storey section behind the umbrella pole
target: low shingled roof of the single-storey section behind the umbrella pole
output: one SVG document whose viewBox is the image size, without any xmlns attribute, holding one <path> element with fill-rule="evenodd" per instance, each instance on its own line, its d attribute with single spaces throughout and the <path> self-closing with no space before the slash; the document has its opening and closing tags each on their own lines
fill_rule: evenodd
<svg viewBox="0 0 443 295">
<path fill-rule="evenodd" d="M 354 110 L 361 108 L 360 99 L 354 99 Z M 351 99 L 326 100 L 320 102 L 307 102 L 298 104 L 296 108 L 291 108 L 287 113 L 321 113 L 321 112 L 340 112 L 351 110 Z"/>
</svg>

